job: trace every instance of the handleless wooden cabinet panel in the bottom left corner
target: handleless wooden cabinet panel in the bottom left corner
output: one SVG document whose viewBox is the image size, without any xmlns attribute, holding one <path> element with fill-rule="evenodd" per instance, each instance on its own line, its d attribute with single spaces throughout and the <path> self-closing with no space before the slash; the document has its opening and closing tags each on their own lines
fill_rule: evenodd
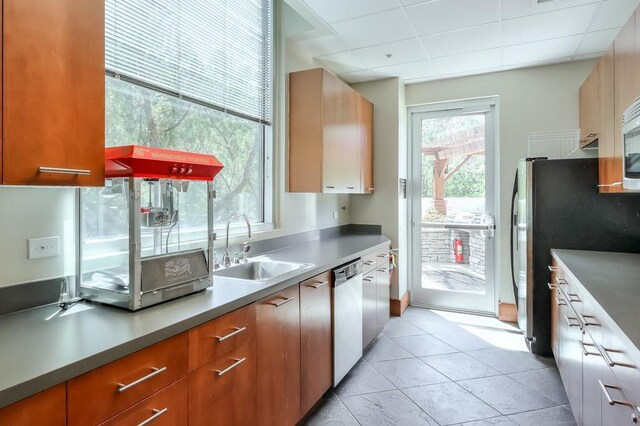
<svg viewBox="0 0 640 426">
<path fill-rule="evenodd" d="M 66 384 L 62 383 L 27 399 L 0 408 L 0 425 L 64 426 Z"/>
</svg>

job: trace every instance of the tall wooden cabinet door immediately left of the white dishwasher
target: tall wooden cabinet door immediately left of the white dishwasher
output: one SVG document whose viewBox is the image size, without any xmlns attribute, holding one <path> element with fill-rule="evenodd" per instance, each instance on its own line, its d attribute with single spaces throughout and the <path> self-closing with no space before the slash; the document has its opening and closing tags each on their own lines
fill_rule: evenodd
<svg viewBox="0 0 640 426">
<path fill-rule="evenodd" d="M 331 387 L 331 272 L 300 283 L 301 413 L 306 414 Z"/>
</svg>

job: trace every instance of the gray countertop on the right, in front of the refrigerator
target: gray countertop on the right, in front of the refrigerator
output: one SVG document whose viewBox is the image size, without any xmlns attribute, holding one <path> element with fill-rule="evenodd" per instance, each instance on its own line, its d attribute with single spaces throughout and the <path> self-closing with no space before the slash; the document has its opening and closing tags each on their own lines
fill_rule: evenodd
<svg viewBox="0 0 640 426">
<path fill-rule="evenodd" d="M 636 348 L 640 348 L 640 254 L 551 250 Z"/>
</svg>

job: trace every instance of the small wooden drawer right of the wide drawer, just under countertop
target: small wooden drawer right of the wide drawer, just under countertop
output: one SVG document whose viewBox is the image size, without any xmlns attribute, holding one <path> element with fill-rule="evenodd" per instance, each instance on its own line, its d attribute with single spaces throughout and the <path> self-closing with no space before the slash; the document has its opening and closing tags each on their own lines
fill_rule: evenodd
<svg viewBox="0 0 640 426">
<path fill-rule="evenodd" d="M 256 335 L 255 305 L 245 306 L 189 330 L 189 371 L 242 345 Z"/>
</svg>

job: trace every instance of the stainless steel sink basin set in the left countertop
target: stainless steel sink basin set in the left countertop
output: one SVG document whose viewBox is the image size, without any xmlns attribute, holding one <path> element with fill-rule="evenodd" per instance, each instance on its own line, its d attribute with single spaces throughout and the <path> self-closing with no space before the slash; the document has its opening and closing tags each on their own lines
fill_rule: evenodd
<svg viewBox="0 0 640 426">
<path fill-rule="evenodd" d="M 255 259 L 247 263 L 233 265 L 213 273 L 214 276 L 233 278 L 243 281 L 269 284 L 277 279 L 293 275 L 296 271 L 309 268 L 308 263 L 281 262 L 276 260 Z"/>
</svg>

